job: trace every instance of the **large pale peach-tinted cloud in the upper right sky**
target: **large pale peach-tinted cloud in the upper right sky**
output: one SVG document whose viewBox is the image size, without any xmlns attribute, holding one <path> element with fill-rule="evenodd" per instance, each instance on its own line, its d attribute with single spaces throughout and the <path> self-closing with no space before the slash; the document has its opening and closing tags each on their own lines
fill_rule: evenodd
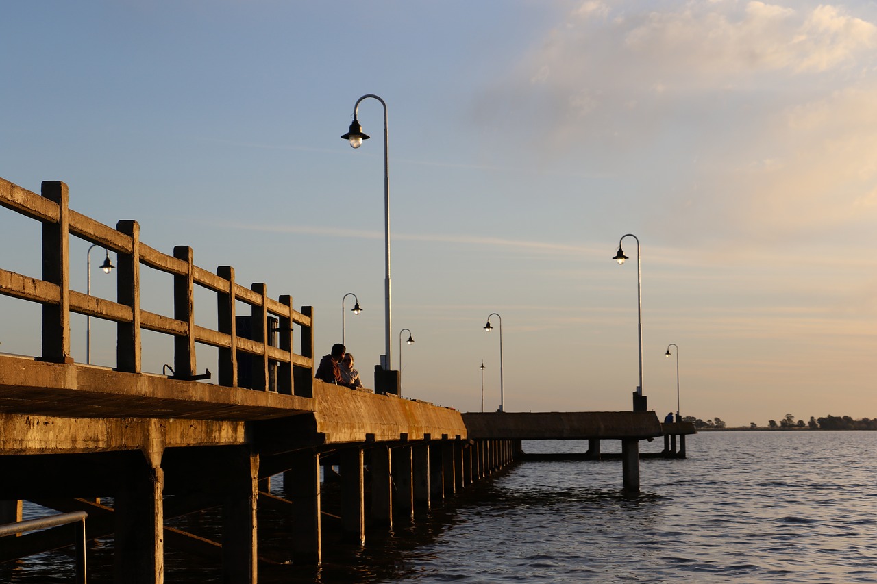
<svg viewBox="0 0 877 584">
<path fill-rule="evenodd" d="M 488 99 L 531 160 L 646 184 L 671 238 L 803 237 L 877 217 L 875 45 L 828 4 L 589 0 Z"/>
</svg>

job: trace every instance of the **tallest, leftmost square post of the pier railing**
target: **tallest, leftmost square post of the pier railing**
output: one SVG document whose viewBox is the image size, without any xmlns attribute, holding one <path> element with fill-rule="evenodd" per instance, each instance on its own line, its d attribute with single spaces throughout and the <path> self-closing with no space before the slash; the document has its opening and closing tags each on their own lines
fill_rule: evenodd
<svg viewBox="0 0 877 584">
<path fill-rule="evenodd" d="M 70 253 L 68 188 L 43 181 L 42 196 L 58 204 L 58 223 L 43 222 L 43 280 L 58 286 L 58 303 L 43 303 L 42 360 L 73 363 L 70 355 Z"/>
</svg>

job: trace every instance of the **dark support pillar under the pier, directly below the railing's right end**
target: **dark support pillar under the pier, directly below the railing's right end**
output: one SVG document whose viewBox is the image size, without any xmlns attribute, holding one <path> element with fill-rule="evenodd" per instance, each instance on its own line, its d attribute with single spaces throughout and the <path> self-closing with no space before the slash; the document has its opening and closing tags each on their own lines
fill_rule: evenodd
<svg viewBox="0 0 877 584">
<path fill-rule="evenodd" d="M 323 561 L 319 454 L 296 452 L 291 469 L 283 474 L 283 487 L 292 502 L 293 562 L 317 565 Z"/>
</svg>

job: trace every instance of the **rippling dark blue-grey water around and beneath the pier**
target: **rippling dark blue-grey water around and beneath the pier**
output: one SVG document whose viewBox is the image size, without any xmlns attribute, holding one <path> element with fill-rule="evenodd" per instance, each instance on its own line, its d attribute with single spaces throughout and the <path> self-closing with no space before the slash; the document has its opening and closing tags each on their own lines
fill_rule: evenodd
<svg viewBox="0 0 877 584">
<path fill-rule="evenodd" d="M 365 549 L 324 544 L 320 569 L 260 566 L 260 582 L 877 583 L 877 432 L 709 432 L 687 445 L 688 459 L 641 460 L 635 498 L 621 494 L 617 460 L 524 462 L 413 525 L 369 532 Z M 272 521 L 260 525 L 267 555 L 290 529 Z M 111 581 L 101 546 L 90 551 L 91 582 Z M 43 554 L 14 572 L 0 566 L 0 581 L 72 581 L 65 566 L 64 554 Z M 167 566 L 168 582 L 222 581 L 171 551 Z"/>
</svg>

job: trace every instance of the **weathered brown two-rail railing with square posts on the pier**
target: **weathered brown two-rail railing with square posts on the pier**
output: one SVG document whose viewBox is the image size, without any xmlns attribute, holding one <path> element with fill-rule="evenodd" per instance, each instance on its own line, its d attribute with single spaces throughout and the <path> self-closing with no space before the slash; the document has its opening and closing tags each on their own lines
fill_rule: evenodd
<svg viewBox="0 0 877 584">
<path fill-rule="evenodd" d="M 310 306 L 298 311 L 292 308 L 291 296 L 273 300 L 263 283 L 245 288 L 235 281 L 232 267 L 218 267 L 216 274 L 198 267 L 189 246 L 175 246 L 173 256 L 161 253 L 140 241 L 136 221 L 119 221 L 113 229 L 70 210 L 68 186 L 63 182 L 43 182 L 41 193 L 0 178 L 0 206 L 42 224 L 42 279 L 0 269 L 0 294 L 42 305 L 39 360 L 74 362 L 70 313 L 75 312 L 117 324 L 117 371 L 141 373 L 141 331 L 156 331 L 174 338 L 174 379 L 207 377 L 196 373 L 196 343 L 201 343 L 217 348 L 219 385 L 267 390 L 276 380 L 278 393 L 313 395 Z M 70 235 L 118 254 L 116 302 L 70 289 Z M 172 317 L 140 308 L 141 266 L 172 274 L 173 290 L 168 291 L 173 296 Z M 217 330 L 195 324 L 196 286 L 217 295 Z M 239 302 L 251 309 L 249 315 L 242 315 L 250 317 L 246 337 L 237 331 Z M 301 332 L 298 354 L 293 349 L 294 324 Z M 277 346 L 269 343 L 274 333 Z"/>
</svg>

